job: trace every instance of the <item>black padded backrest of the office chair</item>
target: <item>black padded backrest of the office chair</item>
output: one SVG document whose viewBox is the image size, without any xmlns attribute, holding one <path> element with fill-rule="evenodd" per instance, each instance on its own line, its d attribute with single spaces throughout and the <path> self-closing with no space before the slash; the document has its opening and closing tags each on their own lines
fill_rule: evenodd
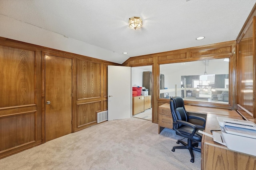
<svg viewBox="0 0 256 170">
<path fill-rule="evenodd" d="M 184 107 L 184 101 L 181 97 L 170 98 L 170 108 L 174 122 L 176 122 L 176 120 L 188 121 L 188 113 Z"/>
</svg>

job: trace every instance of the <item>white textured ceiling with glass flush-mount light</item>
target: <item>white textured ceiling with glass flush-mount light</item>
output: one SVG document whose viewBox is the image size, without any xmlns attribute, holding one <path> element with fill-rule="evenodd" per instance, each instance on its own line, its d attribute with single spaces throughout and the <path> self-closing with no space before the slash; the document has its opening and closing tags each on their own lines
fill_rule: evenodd
<svg viewBox="0 0 256 170">
<path fill-rule="evenodd" d="M 1 0 L 0 15 L 111 51 L 115 55 L 108 53 L 104 60 L 123 63 L 129 57 L 235 40 L 255 3 L 256 0 Z M 141 29 L 128 28 L 128 19 L 133 16 L 142 18 Z M 198 41 L 199 36 L 206 38 Z"/>
</svg>

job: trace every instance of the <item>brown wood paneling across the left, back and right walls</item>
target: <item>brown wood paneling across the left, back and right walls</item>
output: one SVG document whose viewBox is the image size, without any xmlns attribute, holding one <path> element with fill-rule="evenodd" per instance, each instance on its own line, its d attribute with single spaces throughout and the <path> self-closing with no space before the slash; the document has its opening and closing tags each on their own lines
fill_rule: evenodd
<svg viewBox="0 0 256 170">
<path fill-rule="evenodd" d="M 251 117 L 256 117 L 255 16 L 254 6 L 237 38 L 237 49 L 239 49 L 237 53 L 242 51 L 238 58 L 235 53 L 236 41 L 228 41 L 131 57 L 122 64 L 123 66 L 152 65 L 154 82 L 152 122 L 158 123 L 158 106 L 169 102 L 168 99 L 159 98 L 160 64 L 227 57 L 230 58 L 230 104 L 191 101 L 186 101 L 185 104 L 226 109 L 236 109 L 236 104 L 238 104 L 241 111 L 250 113 Z M 244 33 L 248 33 L 248 36 Z M 45 142 L 45 70 L 43 67 L 45 54 L 66 57 L 73 61 L 72 132 L 97 124 L 97 112 L 108 109 L 107 67 L 120 64 L 0 37 L 0 158 Z M 246 58 L 248 54 L 252 56 L 252 59 Z M 237 61 L 239 62 L 237 63 Z M 246 68 L 248 63 L 253 63 L 253 66 Z M 244 76 L 248 69 L 251 73 L 250 76 Z M 241 70 L 244 74 L 240 72 Z M 250 87 L 253 90 L 252 102 L 251 100 L 247 101 L 247 95 L 240 93 L 241 90 L 248 90 L 245 84 L 241 84 L 246 80 L 253 82 Z M 250 88 L 249 90 L 251 90 Z"/>
</svg>

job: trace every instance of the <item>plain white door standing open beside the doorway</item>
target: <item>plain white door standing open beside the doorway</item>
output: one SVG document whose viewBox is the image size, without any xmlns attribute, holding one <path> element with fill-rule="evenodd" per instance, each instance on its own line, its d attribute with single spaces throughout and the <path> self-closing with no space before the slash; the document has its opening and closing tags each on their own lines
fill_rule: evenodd
<svg viewBox="0 0 256 170">
<path fill-rule="evenodd" d="M 108 120 L 132 116 L 131 67 L 108 66 Z"/>
</svg>

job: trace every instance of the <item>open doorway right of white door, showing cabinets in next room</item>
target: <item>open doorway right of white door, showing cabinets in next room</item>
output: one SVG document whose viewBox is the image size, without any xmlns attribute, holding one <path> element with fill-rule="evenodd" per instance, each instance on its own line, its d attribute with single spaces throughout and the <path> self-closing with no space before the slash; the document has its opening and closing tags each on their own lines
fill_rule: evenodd
<svg viewBox="0 0 256 170">
<path fill-rule="evenodd" d="M 132 96 L 132 117 L 152 121 L 152 66 L 132 67 L 131 72 L 132 87 L 143 87 L 141 95 Z"/>
</svg>

